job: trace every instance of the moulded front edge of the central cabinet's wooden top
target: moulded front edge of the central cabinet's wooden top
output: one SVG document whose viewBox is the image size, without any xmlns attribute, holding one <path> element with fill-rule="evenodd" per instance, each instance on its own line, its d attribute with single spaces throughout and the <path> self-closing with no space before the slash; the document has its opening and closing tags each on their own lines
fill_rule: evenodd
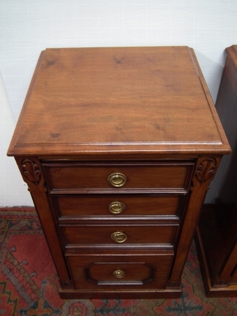
<svg viewBox="0 0 237 316">
<path fill-rule="evenodd" d="M 168 144 L 97 144 L 91 146 L 91 144 L 80 144 L 76 145 L 76 148 L 72 148 L 73 144 L 58 144 L 55 148 L 50 146 L 50 144 L 41 144 L 40 152 L 38 151 L 38 146 L 15 146 L 13 149 L 9 149 L 8 156 L 59 156 L 59 152 L 63 156 L 92 156 L 92 155 L 109 155 L 118 154 L 123 156 L 123 154 L 140 155 L 142 153 L 149 153 L 151 155 L 167 155 L 176 154 L 178 156 L 189 155 L 189 154 L 228 154 L 231 153 L 229 144 L 223 143 L 188 143 L 185 147 L 183 143 L 173 142 L 168 146 Z M 61 151 L 62 149 L 62 151 Z"/>
</svg>

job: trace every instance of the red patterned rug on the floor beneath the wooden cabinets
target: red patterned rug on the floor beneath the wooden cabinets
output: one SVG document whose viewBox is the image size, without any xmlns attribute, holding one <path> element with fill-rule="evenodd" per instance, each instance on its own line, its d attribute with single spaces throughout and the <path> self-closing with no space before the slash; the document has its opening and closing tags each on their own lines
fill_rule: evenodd
<svg viewBox="0 0 237 316">
<path fill-rule="evenodd" d="M 32 208 L 0 209 L 0 268 L 0 315 L 237 316 L 237 298 L 206 298 L 194 243 L 181 299 L 60 299 L 54 264 Z"/>
</svg>

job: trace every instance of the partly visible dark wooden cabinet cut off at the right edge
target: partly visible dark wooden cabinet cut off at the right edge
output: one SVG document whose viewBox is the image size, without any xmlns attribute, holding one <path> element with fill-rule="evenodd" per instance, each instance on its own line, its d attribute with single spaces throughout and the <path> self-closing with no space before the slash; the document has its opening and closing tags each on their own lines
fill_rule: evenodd
<svg viewBox="0 0 237 316">
<path fill-rule="evenodd" d="M 232 153 L 217 171 L 196 239 L 207 296 L 237 296 L 237 45 L 226 52 L 216 109 Z"/>
</svg>

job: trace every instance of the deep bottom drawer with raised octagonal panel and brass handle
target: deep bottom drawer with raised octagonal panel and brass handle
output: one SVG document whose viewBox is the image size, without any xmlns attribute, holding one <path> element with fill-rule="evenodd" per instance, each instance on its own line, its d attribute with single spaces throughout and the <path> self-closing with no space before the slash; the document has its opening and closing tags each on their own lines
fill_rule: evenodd
<svg viewBox="0 0 237 316">
<path fill-rule="evenodd" d="M 173 253 L 67 255 L 75 289 L 165 289 Z"/>
</svg>

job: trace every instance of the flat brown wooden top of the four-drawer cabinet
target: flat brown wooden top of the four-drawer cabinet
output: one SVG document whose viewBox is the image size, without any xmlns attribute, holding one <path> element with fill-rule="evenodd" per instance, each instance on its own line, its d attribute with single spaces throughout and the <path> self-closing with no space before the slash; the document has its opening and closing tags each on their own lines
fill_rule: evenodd
<svg viewBox="0 0 237 316">
<path fill-rule="evenodd" d="M 8 155 L 105 152 L 229 152 L 192 49 L 40 54 Z"/>
</svg>

